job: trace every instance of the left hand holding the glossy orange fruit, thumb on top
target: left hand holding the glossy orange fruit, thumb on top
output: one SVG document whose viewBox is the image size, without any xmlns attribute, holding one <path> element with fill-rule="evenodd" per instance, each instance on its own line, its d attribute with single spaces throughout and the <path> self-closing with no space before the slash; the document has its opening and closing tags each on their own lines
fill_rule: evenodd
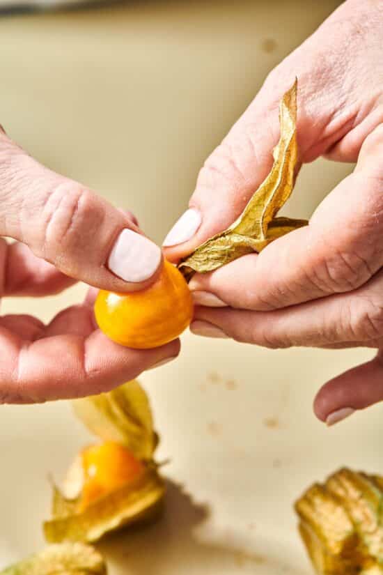
<svg viewBox="0 0 383 575">
<path fill-rule="evenodd" d="M 132 215 L 30 158 L 0 130 L 1 296 L 47 296 L 79 279 L 111 291 L 150 285 L 161 250 Z M 178 355 L 179 342 L 137 351 L 95 326 L 91 290 L 49 325 L 0 318 L 0 403 L 30 403 L 107 391 Z"/>
</svg>

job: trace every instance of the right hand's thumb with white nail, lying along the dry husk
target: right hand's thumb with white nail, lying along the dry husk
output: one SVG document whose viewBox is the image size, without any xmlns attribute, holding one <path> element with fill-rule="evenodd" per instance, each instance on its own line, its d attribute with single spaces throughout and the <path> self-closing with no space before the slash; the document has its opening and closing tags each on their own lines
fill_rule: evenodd
<svg viewBox="0 0 383 575">
<path fill-rule="evenodd" d="M 279 137 L 278 102 L 266 109 L 260 100 L 261 94 L 205 161 L 189 209 L 164 240 L 171 261 L 229 227 L 267 176 Z"/>
</svg>

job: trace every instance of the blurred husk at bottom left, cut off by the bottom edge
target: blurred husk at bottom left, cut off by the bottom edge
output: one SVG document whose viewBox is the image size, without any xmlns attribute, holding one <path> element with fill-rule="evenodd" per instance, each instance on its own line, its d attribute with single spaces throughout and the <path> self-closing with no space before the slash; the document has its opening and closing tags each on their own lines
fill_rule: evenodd
<svg viewBox="0 0 383 575">
<path fill-rule="evenodd" d="M 107 567 L 93 547 L 67 543 L 51 545 L 0 575 L 107 575 Z"/>
</svg>

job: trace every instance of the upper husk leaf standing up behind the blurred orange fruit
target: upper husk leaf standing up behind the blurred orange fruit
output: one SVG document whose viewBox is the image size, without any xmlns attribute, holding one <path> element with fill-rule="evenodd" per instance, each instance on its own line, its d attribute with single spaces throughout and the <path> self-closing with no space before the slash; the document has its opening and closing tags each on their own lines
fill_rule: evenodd
<svg viewBox="0 0 383 575">
<path fill-rule="evenodd" d="M 133 380 L 116 390 L 72 401 L 91 433 L 124 445 L 137 459 L 150 460 L 158 443 L 146 392 Z"/>
</svg>

